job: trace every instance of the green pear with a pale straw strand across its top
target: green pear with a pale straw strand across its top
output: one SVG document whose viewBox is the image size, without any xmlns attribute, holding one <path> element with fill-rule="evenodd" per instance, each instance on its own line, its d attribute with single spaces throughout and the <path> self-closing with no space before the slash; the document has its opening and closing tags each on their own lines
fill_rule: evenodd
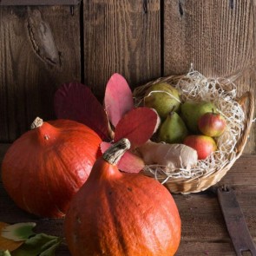
<svg viewBox="0 0 256 256">
<path fill-rule="evenodd" d="M 161 120 L 165 120 L 170 111 L 180 108 L 180 93 L 167 82 L 155 83 L 146 91 L 144 105 L 154 108 Z"/>
</svg>

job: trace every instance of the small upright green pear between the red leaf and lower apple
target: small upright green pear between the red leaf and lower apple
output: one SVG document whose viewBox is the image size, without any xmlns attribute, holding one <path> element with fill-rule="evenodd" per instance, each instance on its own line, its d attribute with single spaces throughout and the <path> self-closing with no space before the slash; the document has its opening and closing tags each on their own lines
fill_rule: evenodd
<svg viewBox="0 0 256 256">
<path fill-rule="evenodd" d="M 187 127 L 181 116 L 172 111 L 162 122 L 158 139 L 167 143 L 181 143 L 187 134 Z"/>
</svg>

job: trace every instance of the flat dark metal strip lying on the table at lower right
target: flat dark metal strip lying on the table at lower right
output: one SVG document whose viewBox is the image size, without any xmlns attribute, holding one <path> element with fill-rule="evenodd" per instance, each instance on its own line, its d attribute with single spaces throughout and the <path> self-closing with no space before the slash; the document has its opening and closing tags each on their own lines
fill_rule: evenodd
<svg viewBox="0 0 256 256">
<path fill-rule="evenodd" d="M 236 254 L 242 256 L 243 252 L 250 252 L 251 255 L 256 256 L 256 246 L 253 243 L 253 238 L 233 189 L 219 187 L 217 194 Z"/>
</svg>

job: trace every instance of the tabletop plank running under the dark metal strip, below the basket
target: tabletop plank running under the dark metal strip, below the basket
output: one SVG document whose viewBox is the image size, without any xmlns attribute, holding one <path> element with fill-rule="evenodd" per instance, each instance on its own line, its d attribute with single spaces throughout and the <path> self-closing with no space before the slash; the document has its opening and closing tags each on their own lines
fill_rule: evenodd
<svg viewBox="0 0 256 256">
<path fill-rule="evenodd" d="M 256 187 L 251 189 L 237 188 L 237 200 L 245 215 L 246 224 L 256 239 Z M 174 195 L 181 214 L 182 237 L 186 242 L 216 240 L 229 241 L 225 221 L 220 211 L 219 202 L 215 194 L 188 194 L 182 198 Z"/>
</svg>

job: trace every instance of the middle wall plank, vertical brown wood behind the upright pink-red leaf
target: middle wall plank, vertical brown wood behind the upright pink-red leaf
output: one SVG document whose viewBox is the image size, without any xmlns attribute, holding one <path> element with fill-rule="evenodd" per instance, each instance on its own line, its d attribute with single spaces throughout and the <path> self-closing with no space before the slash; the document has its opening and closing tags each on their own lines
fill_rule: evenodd
<svg viewBox="0 0 256 256">
<path fill-rule="evenodd" d="M 102 99 L 108 79 L 132 89 L 161 75 L 160 1 L 83 1 L 84 76 Z"/>
</svg>

